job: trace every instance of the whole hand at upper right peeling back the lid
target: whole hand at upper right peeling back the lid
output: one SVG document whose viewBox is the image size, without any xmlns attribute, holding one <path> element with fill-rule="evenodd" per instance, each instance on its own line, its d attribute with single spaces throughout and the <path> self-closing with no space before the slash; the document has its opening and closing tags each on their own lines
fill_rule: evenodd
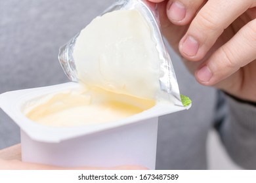
<svg viewBox="0 0 256 183">
<path fill-rule="evenodd" d="M 163 35 L 198 82 L 256 102 L 255 0 L 159 3 Z"/>
</svg>

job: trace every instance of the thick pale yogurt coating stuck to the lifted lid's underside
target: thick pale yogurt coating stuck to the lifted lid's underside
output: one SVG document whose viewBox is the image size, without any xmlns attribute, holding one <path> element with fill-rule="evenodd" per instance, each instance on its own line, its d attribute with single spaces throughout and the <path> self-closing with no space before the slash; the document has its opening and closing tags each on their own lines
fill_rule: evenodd
<svg viewBox="0 0 256 183">
<path fill-rule="evenodd" d="M 84 84 L 146 99 L 160 90 L 159 53 L 139 10 L 95 18 L 77 37 L 74 61 Z"/>
</svg>

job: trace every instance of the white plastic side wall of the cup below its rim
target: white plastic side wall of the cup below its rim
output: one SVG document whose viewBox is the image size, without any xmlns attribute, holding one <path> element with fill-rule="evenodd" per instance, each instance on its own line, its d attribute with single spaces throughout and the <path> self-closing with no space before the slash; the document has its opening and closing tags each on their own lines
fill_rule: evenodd
<svg viewBox="0 0 256 183">
<path fill-rule="evenodd" d="M 58 143 L 33 141 L 21 131 L 22 161 L 60 167 L 142 165 L 155 169 L 158 118 Z"/>
</svg>

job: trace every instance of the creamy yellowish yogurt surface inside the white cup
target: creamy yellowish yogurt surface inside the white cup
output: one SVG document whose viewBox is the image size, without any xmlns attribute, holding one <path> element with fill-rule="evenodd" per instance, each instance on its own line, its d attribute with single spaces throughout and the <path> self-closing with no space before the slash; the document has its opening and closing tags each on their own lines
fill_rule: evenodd
<svg viewBox="0 0 256 183">
<path fill-rule="evenodd" d="M 42 125 L 68 127 L 121 120 L 154 105 L 153 100 L 93 88 L 47 95 L 33 102 L 25 113 L 30 120 Z"/>
</svg>

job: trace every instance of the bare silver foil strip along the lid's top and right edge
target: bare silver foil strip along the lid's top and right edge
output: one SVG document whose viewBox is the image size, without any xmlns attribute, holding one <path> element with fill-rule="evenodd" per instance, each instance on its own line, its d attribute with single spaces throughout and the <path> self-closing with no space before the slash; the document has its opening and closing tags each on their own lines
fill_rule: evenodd
<svg viewBox="0 0 256 183">
<path fill-rule="evenodd" d="M 156 41 L 156 49 L 158 50 L 161 60 L 161 76 L 160 87 L 163 93 L 161 95 L 167 95 L 170 101 L 173 101 L 175 105 L 182 105 L 181 95 L 179 92 L 179 85 L 171 62 L 171 57 L 167 52 L 167 48 L 163 42 L 163 36 L 161 34 L 161 25 L 158 15 L 158 7 L 155 3 L 147 0 L 119 0 L 106 9 L 103 14 L 112 12 L 114 10 L 139 10 L 142 16 L 146 19 L 148 24 L 152 27 L 152 36 Z"/>
</svg>

